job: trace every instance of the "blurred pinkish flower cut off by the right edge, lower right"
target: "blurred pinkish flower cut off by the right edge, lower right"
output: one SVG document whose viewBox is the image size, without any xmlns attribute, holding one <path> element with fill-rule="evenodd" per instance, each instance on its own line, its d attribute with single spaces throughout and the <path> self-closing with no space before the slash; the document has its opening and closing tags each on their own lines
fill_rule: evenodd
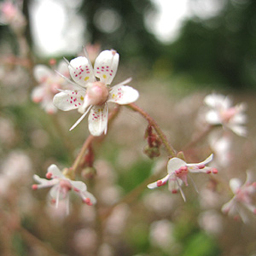
<svg viewBox="0 0 256 256">
<path fill-rule="evenodd" d="M 234 218 L 241 217 L 244 223 L 249 222 L 248 212 L 256 214 L 256 207 L 253 206 L 253 193 L 256 192 L 256 182 L 253 182 L 251 172 L 247 172 L 247 179 L 244 184 L 241 180 L 234 177 L 230 179 L 230 189 L 234 196 L 224 204 L 222 211 Z"/>
</svg>

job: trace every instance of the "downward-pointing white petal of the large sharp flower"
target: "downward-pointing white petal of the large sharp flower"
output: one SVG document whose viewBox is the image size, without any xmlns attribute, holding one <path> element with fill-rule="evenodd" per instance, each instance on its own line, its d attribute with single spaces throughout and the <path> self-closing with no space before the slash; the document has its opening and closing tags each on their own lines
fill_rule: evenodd
<svg viewBox="0 0 256 256">
<path fill-rule="evenodd" d="M 108 128 L 108 105 L 93 106 L 89 114 L 89 131 L 93 136 L 101 136 Z"/>
</svg>

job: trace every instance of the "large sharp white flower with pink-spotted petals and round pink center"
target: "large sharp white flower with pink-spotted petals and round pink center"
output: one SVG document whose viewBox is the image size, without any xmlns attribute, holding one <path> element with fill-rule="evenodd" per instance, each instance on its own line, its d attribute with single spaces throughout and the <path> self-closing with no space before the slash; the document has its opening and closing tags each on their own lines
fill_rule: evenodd
<svg viewBox="0 0 256 256">
<path fill-rule="evenodd" d="M 114 85 L 108 85 L 117 72 L 119 54 L 115 50 L 104 50 L 97 56 L 94 68 L 89 58 L 78 57 L 70 61 L 68 68 L 77 88 L 75 90 L 61 90 L 54 97 L 54 104 L 63 111 L 78 109 L 83 113 L 70 130 L 89 114 L 89 131 L 93 136 L 101 136 L 108 129 L 108 102 L 119 105 L 137 101 L 137 90 L 125 85 L 131 79 Z M 99 80 L 96 80 L 99 79 Z"/>
</svg>

